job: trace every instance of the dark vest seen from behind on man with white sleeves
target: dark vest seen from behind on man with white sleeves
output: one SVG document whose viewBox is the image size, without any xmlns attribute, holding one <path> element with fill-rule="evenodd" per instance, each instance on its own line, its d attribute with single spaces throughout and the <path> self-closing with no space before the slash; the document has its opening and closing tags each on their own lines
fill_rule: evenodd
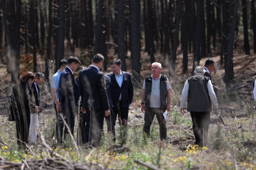
<svg viewBox="0 0 256 170">
<path fill-rule="evenodd" d="M 210 78 L 194 75 L 188 78 L 188 112 L 211 112 L 211 100 L 207 88 Z"/>
</svg>

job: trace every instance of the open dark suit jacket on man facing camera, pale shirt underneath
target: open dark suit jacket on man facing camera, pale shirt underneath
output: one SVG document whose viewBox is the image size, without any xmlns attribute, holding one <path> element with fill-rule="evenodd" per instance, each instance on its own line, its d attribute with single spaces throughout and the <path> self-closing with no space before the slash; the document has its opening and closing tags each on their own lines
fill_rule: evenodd
<svg viewBox="0 0 256 170">
<path fill-rule="evenodd" d="M 122 86 L 119 87 L 115 74 L 113 72 L 106 74 L 111 79 L 111 99 L 113 104 L 116 104 L 119 100 L 120 94 L 122 94 L 122 104 L 123 107 L 127 107 L 132 103 L 133 98 L 133 84 L 132 84 L 132 76 L 130 73 L 123 71 L 123 83 Z"/>
</svg>

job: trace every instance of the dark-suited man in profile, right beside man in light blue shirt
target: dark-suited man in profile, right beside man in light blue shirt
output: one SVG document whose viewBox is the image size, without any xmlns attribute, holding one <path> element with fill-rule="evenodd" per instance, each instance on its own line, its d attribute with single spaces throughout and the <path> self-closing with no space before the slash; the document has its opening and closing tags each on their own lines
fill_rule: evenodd
<svg viewBox="0 0 256 170">
<path fill-rule="evenodd" d="M 71 134 L 74 134 L 75 114 L 78 111 L 79 89 L 75 81 L 73 72 L 76 71 L 81 62 L 77 57 L 69 57 L 66 69 L 60 74 L 59 82 L 59 102 L 65 122 Z M 57 104 L 58 105 L 58 104 Z M 64 138 L 68 135 L 68 128 L 65 125 Z"/>
</svg>

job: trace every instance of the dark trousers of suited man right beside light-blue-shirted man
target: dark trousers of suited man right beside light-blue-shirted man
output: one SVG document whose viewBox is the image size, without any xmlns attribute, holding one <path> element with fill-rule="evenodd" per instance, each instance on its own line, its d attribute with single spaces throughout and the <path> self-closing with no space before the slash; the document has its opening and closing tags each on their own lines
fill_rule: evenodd
<svg viewBox="0 0 256 170">
<path fill-rule="evenodd" d="M 72 109 L 62 108 L 62 113 L 65 118 L 65 122 L 67 123 L 68 128 L 72 135 L 74 135 L 74 127 L 75 127 L 75 113 L 74 112 L 72 111 Z M 69 134 L 68 128 L 65 125 L 64 139 L 66 139 L 66 134 Z"/>
</svg>

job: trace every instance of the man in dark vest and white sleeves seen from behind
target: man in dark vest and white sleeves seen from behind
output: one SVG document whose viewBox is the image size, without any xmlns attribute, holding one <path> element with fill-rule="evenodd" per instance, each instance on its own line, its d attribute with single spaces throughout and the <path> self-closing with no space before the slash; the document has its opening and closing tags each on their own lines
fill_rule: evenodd
<svg viewBox="0 0 256 170">
<path fill-rule="evenodd" d="M 198 66 L 195 75 L 189 77 L 185 83 L 180 100 L 180 113 L 183 114 L 186 99 L 188 97 L 188 108 L 190 112 L 193 131 L 195 135 L 195 145 L 206 146 L 208 129 L 210 125 L 210 112 L 217 111 L 218 103 L 212 87 L 212 81 L 205 77 L 204 67 Z"/>
</svg>

